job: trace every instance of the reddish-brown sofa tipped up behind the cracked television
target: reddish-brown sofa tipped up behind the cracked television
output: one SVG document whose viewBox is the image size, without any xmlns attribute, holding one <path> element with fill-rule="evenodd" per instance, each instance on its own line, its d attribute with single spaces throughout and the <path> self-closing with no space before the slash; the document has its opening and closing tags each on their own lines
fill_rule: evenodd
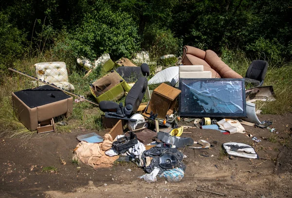
<svg viewBox="0 0 292 198">
<path fill-rule="evenodd" d="M 183 46 L 183 65 L 203 65 L 204 71 L 212 72 L 212 78 L 242 78 L 226 65 L 212 50 L 203 51 L 191 46 Z"/>
</svg>

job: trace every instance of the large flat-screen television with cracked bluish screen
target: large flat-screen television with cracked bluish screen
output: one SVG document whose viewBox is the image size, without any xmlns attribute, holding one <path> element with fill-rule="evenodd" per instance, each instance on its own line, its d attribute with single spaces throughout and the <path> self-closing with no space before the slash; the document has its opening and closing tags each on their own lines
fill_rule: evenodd
<svg viewBox="0 0 292 198">
<path fill-rule="evenodd" d="M 180 78 L 179 89 L 181 116 L 246 117 L 243 78 Z"/>
</svg>

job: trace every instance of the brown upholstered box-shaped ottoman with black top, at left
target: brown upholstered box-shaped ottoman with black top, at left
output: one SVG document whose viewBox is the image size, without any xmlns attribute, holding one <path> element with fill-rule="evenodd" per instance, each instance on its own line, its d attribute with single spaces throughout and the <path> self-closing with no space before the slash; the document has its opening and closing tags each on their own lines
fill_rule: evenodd
<svg viewBox="0 0 292 198">
<path fill-rule="evenodd" d="M 56 116 L 72 114 L 73 98 L 49 85 L 12 93 L 13 107 L 18 120 L 30 131 L 38 123 Z"/>
</svg>

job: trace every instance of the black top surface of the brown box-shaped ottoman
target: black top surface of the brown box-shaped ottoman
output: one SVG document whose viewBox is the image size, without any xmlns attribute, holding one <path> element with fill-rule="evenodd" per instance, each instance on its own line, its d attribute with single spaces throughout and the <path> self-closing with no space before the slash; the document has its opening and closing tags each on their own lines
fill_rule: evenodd
<svg viewBox="0 0 292 198">
<path fill-rule="evenodd" d="M 60 100 L 71 98 L 61 90 L 49 85 L 37 87 L 36 89 L 20 90 L 14 94 L 28 107 L 35 108 Z"/>
</svg>

